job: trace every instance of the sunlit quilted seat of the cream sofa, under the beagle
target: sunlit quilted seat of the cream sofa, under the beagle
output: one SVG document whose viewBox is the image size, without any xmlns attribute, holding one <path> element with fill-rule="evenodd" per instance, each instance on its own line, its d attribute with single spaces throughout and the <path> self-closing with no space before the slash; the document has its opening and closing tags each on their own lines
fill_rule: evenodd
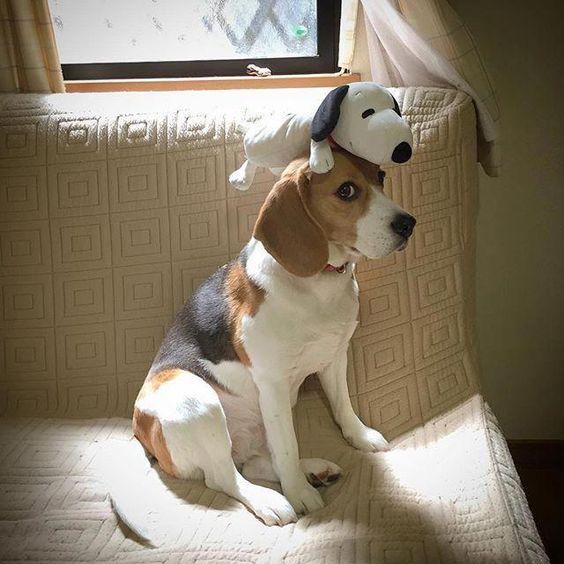
<svg viewBox="0 0 564 564">
<path fill-rule="evenodd" d="M 94 404 L 74 390 L 70 407 L 87 414 Z M 127 450 L 128 419 L 4 419 L 0 560 L 548 562 L 503 435 L 479 395 L 384 453 L 347 445 L 313 392 L 299 403 L 297 422 L 300 451 L 344 470 L 322 491 L 325 507 L 297 523 L 267 527 L 201 480 L 137 471 L 130 479 L 148 501 L 145 522 L 159 541 L 152 548 L 119 525 L 99 477 L 108 444 Z"/>
</svg>

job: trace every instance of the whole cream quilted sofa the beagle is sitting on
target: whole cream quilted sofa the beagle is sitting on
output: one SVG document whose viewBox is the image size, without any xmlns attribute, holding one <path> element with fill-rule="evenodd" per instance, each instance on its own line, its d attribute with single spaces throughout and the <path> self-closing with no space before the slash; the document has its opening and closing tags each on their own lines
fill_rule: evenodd
<svg viewBox="0 0 564 564">
<path fill-rule="evenodd" d="M 547 562 L 479 393 L 475 117 L 452 90 L 395 92 L 416 154 L 386 188 L 416 234 L 358 269 L 351 395 L 394 448 L 348 447 L 313 380 L 296 409 L 302 455 L 346 470 L 323 510 L 268 528 L 153 470 L 140 495 L 161 546 L 135 542 L 112 513 L 100 450 L 129 438 L 174 311 L 237 254 L 272 186 L 267 172 L 245 194 L 227 185 L 242 133 L 324 93 L 0 97 L 0 560 Z"/>
</svg>

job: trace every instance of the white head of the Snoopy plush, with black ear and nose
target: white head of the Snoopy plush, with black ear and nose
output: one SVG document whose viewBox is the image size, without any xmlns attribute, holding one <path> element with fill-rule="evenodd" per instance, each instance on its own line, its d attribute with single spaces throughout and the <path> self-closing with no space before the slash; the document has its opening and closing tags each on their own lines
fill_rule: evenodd
<svg viewBox="0 0 564 564">
<path fill-rule="evenodd" d="M 313 118 L 311 137 L 321 141 L 329 136 L 371 163 L 404 163 L 411 158 L 411 129 L 396 99 L 374 82 L 355 82 L 329 92 Z"/>
</svg>

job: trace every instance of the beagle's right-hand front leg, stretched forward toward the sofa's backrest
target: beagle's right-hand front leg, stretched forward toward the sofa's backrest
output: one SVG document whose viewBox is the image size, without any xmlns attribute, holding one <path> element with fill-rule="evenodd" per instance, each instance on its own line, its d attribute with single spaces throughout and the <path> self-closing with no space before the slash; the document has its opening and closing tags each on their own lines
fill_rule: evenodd
<svg viewBox="0 0 564 564">
<path fill-rule="evenodd" d="M 345 439 L 355 448 L 366 452 L 388 450 L 388 441 L 378 431 L 367 427 L 353 410 L 347 385 L 346 351 L 319 372 L 319 380 Z"/>
</svg>

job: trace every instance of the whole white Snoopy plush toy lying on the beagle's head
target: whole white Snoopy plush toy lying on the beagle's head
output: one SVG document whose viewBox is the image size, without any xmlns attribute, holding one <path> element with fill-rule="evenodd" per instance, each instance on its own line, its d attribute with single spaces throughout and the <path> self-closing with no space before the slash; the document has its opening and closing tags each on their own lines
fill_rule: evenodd
<svg viewBox="0 0 564 564">
<path fill-rule="evenodd" d="M 244 139 L 247 160 L 229 176 L 239 190 L 252 184 L 259 166 L 274 174 L 307 154 L 313 172 L 333 168 L 331 143 L 374 164 L 404 163 L 413 137 L 396 99 L 374 82 L 354 82 L 331 90 L 315 114 L 289 114 L 251 127 Z"/>
</svg>

